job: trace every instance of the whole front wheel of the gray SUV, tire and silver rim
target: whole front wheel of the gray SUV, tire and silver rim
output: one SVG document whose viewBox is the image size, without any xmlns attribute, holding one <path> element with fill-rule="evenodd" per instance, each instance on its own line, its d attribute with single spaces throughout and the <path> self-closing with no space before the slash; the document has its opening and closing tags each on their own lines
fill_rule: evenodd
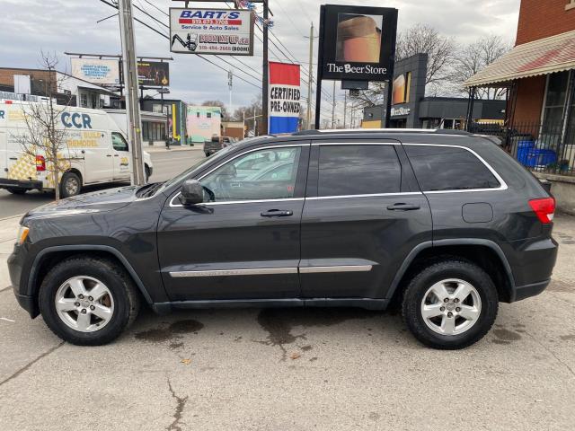
<svg viewBox="0 0 575 431">
<path fill-rule="evenodd" d="M 118 338 L 137 316 L 140 299 L 123 268 L 108 259 L 66 259 L 42 281 L 40 313 L 60 339 L 100 346 Z"/>
</svg>

